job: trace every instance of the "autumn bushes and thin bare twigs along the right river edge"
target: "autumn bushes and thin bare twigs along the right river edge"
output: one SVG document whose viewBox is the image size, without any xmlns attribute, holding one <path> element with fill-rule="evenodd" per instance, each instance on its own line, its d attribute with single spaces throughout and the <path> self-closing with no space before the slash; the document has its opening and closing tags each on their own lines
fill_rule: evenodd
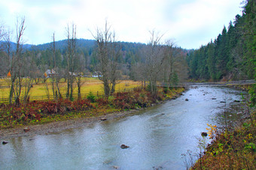
<svg viewBox="0 0 256 170">
<path fill-rule="evenodd" d="M 200 154 L 197 154 L 197 162 L 194 162 L 194 154 L 187 151 L 182 154 L 187 169 L 256 169 L 256 111 L 255 88 L 250 88 L 250 100 L 242 103 L 244 118 L 235 122 L 227 121 L 231 112 L 224 111 L 224 127 L 216 127 L 208 124 L 209 139 L 212 142 L 206 146 L 200 139 Z M 199 157 L 198 157 L 199 156 Z"/>
</svg>

